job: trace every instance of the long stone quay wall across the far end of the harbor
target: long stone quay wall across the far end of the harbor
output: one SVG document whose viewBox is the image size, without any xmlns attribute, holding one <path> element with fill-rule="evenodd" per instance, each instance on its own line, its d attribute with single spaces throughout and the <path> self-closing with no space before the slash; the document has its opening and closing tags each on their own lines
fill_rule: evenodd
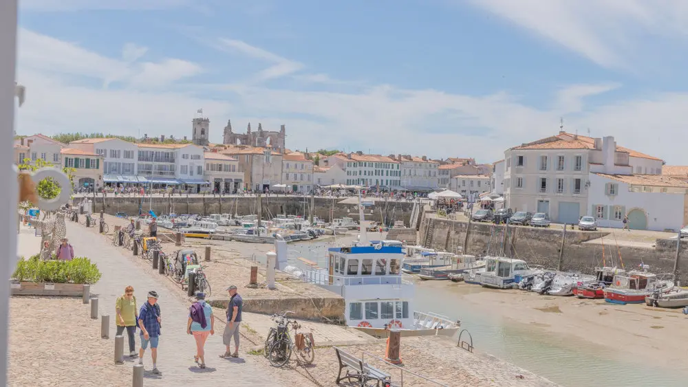
<svg viewBox="0 0 688 387">
<path fill-rule="evenodd" d="M 91 199 L 91 198 L 89 198 Z M 92 199 L 93 200 L 93 199 Z M 136 216 L 141 210 L 143 213 L 148 213 L 149 208 L 156 214 L 168 214 L 173 212 L 176 214 L 238 214 L 250 215 L 257 214 L 258 200 L 261 200 L 263 217 L 266 219 L 270 216 L 278 214 L 286 215 L 303 215 L 304 212 L 308 217 L 310 208 L 310 197 L 291 197 L 291 196 L 262 196 L 257 197 L 219 197 L 213 195 L 206 195 L 204 197 L 186 197 L 172 196 L 172 197 L 114 197 L 96 196 L 94 212 L 104 210 L 105 213 L 114 215 L 118 212 L 124 212 L 128 216 Z M 342 199 L 316 197 L 314 198 L 314 215 L 330 221 L 330 209 L 334 218 L 347 217 L 354 214 L 353 218 L 358 220 L 358 206 L 356 204 L 339 204 L 338 201 Z M 78 206 L 80 198 L 74 198 L 74 206 Z M 370 213 L 372 210 L 372 214 Z M 394 221 L 404 221 L 409 225 L 411 219 L 411 211 L 413 210 L 413 203 L 401 201 L 376 201 L 375 206 L 366 208 L 366 219 L 370 221 L 381 222 L 385 213 L 389 223 Z"/>
</svg>

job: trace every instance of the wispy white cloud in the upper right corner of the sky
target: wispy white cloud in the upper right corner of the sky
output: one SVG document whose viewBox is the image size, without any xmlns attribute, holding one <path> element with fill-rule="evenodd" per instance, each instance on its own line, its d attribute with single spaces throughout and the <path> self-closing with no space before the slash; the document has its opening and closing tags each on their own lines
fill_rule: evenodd
<svg viewBox="0 0 688 387">
<path fill-rule="evenodd" d="M 477 8 L 502 17 L 592 62 L 634 69 L 645 59 L 638 49 L 647 34 L 685 37 L 688 3 L 643 0 L 471 0 Z M 654 39 L 652 39 L 654 41 Z"/>
</svg>

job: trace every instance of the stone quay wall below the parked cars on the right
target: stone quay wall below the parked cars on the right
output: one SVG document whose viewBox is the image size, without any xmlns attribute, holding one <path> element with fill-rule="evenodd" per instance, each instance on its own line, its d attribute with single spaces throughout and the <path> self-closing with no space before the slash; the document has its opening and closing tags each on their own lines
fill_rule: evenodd
<svg viewBox="0 0 688 387">
<path fill-rule="evenodd" d="M 466 221 L 452 221 L 424 212 L 418 230 L 418 241 L 425 247 L 460 252 L 466 241 Z M 505 234 L 506 228 L 506 234 Z M 495 225 L 472 222 L 466 241 L 466 254 L 504 255 L 523 259 L 531 265 L 556 269 L 562 247 L 563 230 Z M 614 238 L 605 232 L 566 230 L 561 254 L 561 269 L 591 273 L 602 265 L 603 247 L 599 243 L 585 243 L 604 238 L 605 263 L 615 263 L 625 269 L 634 269 L 643 263 L 656 274 L 673 273 L 676 262 L 676 240 L 657 239 L 654 247 L 616 245 Z M 682 241 L 678 258 L 678 278 L 688 283 L 688 241 Z"/>
</svg>

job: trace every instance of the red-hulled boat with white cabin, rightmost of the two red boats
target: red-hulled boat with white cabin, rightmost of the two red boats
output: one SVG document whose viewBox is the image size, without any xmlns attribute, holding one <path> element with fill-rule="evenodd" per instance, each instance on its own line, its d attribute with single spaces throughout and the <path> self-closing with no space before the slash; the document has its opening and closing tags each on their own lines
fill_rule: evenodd
<svg viewBox="0 0 688 387">
<path fill-rule="evenodd" d="M 673 274 L 632 271 L 614 276 L 612 285 L 603 290 L 604 300 L 613 304 L 641 304 L 645 297 L 655 292 L 664 294 L 675 286 Z"/>
</svg>

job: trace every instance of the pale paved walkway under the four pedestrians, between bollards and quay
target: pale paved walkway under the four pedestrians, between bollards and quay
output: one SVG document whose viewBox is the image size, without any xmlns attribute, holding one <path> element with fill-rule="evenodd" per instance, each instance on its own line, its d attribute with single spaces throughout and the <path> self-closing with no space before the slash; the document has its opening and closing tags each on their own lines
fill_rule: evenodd
<svg viewBox="0 0 688 387">
<path fill-rule="evenodd" d="M 98 295 L 100 313 L 107 313 L 110 317 L 111 338 L 114 338 L 114 304 L 127 285 L 134 287 L 134 294 L 139 304 L 146 300 L 149 290 L 158 291 L 160 309 L 162 313 L 162 335 L 158 352 L 158 368 L 162 377 L 151 375 L 152 367 L 150 350 L 144 356 L 145 386 L 224 386 L 228 382 L 232 386 L 288 386 L 304 385 L 301 381 L 294 381 L 294 373 L 284 372 L 275 375 L 276 370 L 269 369 L 267 362 L 263 363 L 262 356 L 246 355 L 251 344 L 243 342 L 238 359 L 224 360 L 217 355 L 224 353 L 222 344 L 222 322 L 216 320 L 216 332 L 206 342 L 205 369 L 197 367 L 193 362 L 195 342 L 193 337 L 186 334 L 186 321 L 189 304 L 184 302 L 175 291 L 170 289 L 164 276 L 155 278 L 147 273 L 144 261 L 127 255 L 127 250 L 107 243 L 107 239 L 86 230 L 75 223 L 67 223 L 67 236 L 74 245 L 76 256 L 88 256 L 98 264 L 103 277 L 94 285 L 92 294 Z M 148 261 L 145 261 L 147 264 Z M 223 284 L 217 284 L 218 289 Z M 138 336 L 138 334 L 137 334 Z M 125 347 L 127 347 L 125 338 Z M 136 339 L 139 345 L 139 339 Z M 108 344 L 114 348 L 114 341 Z M 125 348 L 125 351 L 128 347 Z M 125 366 L 131 368 L 133 362 L 128 361 Z M 131 375 L 131 370 L 127 371 Z"/>
</svg>

